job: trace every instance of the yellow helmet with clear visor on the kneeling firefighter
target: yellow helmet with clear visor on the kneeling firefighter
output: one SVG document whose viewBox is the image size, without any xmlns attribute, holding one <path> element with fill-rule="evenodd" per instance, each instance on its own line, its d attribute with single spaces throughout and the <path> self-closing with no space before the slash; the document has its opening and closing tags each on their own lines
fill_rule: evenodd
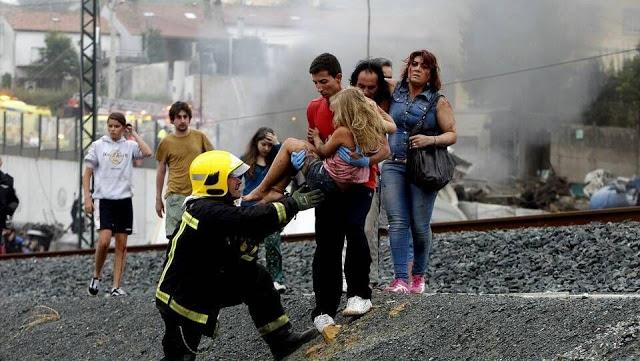
<svg viewBox="0 0 640 361">
<path fill-rule="evenodd" d="M 222 197 L 227 194 L 227 178 L 241 177 L 249 166 L 224 150 L 210 150 L 197 156 L 189 167 L 191 195 Z"/>
</svg>

